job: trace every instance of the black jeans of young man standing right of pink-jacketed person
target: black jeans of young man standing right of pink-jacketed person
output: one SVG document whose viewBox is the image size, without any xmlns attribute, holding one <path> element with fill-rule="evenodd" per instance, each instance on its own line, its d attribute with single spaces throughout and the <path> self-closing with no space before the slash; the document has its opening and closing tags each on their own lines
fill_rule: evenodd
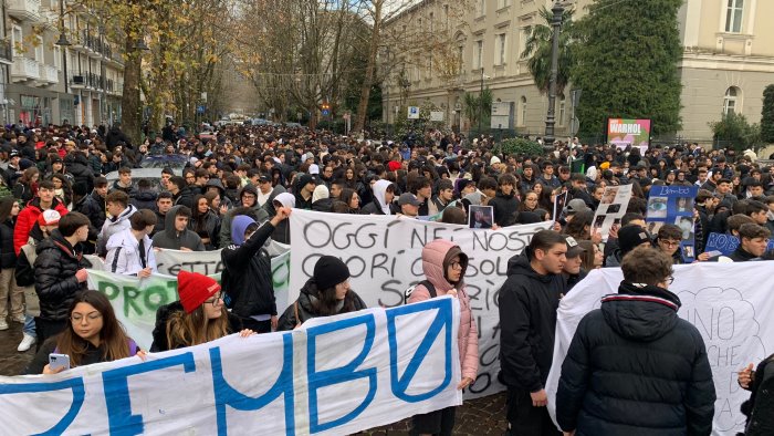
<svg viewBox="0 0 774 436">
<path fill-rule="evenodd" d="M 508 423 L 512 436 L 561 436 L 547 407 L 535 407 L 527 391 L 508 388 Z"/>
</svg>

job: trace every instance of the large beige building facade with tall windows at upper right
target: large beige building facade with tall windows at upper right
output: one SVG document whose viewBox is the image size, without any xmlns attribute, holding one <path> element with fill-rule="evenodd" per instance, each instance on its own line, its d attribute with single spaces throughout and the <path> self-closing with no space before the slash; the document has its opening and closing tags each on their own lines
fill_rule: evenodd
<svg viewBox="0 0 774 436">
<path fill-rule="evenodd" d="M 500 112 L 508 112 L 508 127 L 519 133 L 542 135 L 545 131 L 547 96 L 541 94 L 520 54 L 536 24 L 545 24 L 540 10 L 553 0 L 469 0 L 467 13 L 449 20 L 448 0 L 423 0 L 391 20 L 387 28 L 411 34 L 412 29 L 436 25 L 453 33 L 460 58 L 459 74 L 441 80 L 433 69 L 432 53 L 389 59 L 390 74 L 384 83 L 384 121 L 393 124 L 406 104 L 431 102 L 441 107 L 449 126 L 463 132 L 471 127 L 462 113 L 466 92 L 492 91 Z M 575 8 L 575 19 L 586 13 L 593 0 L 564 1 Z M 724 112 L 744 114 L 751 123 L 761 120 L 762 94 L 774 83 L 774 1 L 686 0 L 679 12 L 684 46 L 679 71 L 682 79 L 682 129 L 686 139 L 709 142 L 709 122 Z M 430 23 L 433 24 L 430 24 Z M 410 45 L 410 44 L 409 44 Z M 400 51 L 400 50 L 396 50 Z M 410 52 L 410 48 L 402 51 Z M 419 60 L 417 60 L 419 59 Z M 565 97 L 556 98 L 556 136 L 571 135 L 572 84 Z M 496 117 L 502 125 L 502 116 Z M 496 127 L 496 126 L 492 126 Z M 508 128 L 503 126 L 503 128 Z"/>
</svg>

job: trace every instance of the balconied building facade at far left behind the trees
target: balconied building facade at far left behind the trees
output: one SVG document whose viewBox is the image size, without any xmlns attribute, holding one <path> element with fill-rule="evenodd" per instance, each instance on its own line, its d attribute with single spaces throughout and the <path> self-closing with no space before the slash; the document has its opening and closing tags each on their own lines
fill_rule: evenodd
<svg viewBox="0 0 774 436">
<path fill-rule="evenodd" d="M 92 25 L 90 11 L 64 17 L 60 45 L 60 1 L 4 0 L 2 29 L 10 71 L 0 83 L 4 124 L 109 124 L 121 115 L 123 63 Z M 0 48 L 0 63 L 3 63 Z M 10 74 L 9 74 L 10 73 Z"/>
</svg>

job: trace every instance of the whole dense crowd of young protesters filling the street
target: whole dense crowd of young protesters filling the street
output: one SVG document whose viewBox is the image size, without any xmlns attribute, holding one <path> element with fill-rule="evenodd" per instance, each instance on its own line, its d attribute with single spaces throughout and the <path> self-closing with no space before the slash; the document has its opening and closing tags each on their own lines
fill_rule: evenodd
<svg viewBox="0 0 774 436">
<path fill-rule="evenodd" d="M 499 293 L 500 377 L 509 387 L 510 432 L 557 432 L 544 406 L 558 301 L 588 271 L 620 267 L 625 280 L 618 293 L 634 298 L 605 300 L 580 323 L 563 368 L 559 425 L 578 435 L 623 434 L 632 426 L 709 434 L 714 390 L 705 351 L 695 329 L 677 318 L 680 302 L 668 290 L 671 266 L 683 259 L 678 250 L 683 231 L 663 225 L 650 235 L 649 190 L 699 187 L 692 205 L 697 261 L 774 258 L 767 251 L 774 168 L 747 152 L 699 144 L 641 153 L 573 138 L 531 156 L 504 155 L 491 137 L 469 141 L 439 131 L 393 142 L 236 125 L 206 137 L 167 126 L 142 144 L 132 144 L 118 126 L 9 126 L 0 142 L 0 330 L 9 319 L 24 324 L 19 351 L 39 349 L 30 373 L 50 373 L 44 357 L 54 350 L 75 353 L 76 365 L 144 354 L 122 334 L 109 304 L 86 289 L 92 264 L 84 255 L 104 259 L 109 272 L 146 278 L 157 270 L 158 250 L 222 249 L 221 284 L 200 274 L 178 277 L 179 301 L 159 310 L 149 350 L 164 351 L 237 332 L 292 330 L 310 318 L 366 307 L 349 289 L 346 266 L 323 257 L 299 300 L 278 313 L 265 245 L 292 247 L 293 209 L 462 225 L 471 206 L 490 206 L 495 229 L 555 221 L 510 260 Z M 133 178 L 148 156 L 181 157 L 185 166 L 163 168 L 157 179 Z M 616 185 L 631 185 L 632 197 L 603 241 L 594 215 L 605 188 Z M 565 193 L 566 206 L 554 216 L 555 199 Z M 738 237 L 739 248 L 728 256 L 705 252 L 711 232 Z M 452 242 L 428 243 L 427 280 L 408 299 L 460 299 L 459 388 L 474 382 L 479 361 L 464 291 L 467 262 Z M 621 351 L 620 359 L 598 367 L 594 353 L 605 346 Z M 676 362 L 668 364 L 674 371 L 644 368 L 653 350 L 673 353 Z M 677 362 L 681 359 L 690 364 Z M 759 405 L 771 402 L 755 391 L 771 384 L 762 378 L 772 378 L 772 365 L 763 366 L 757 377 L 752 367 L 740 375 Z M 663 413 L 639 413 L 652 404 L 662 404 Z M 755 409 L 745 408 L 750 416 Z M 453 408 L 416 416 L 415 433 L 451 434 L 453 416 Z M 753 422 L 772 428 L 771 419 Z M 750 434 L 763 434 L 754 430 Z"/>
</svg>

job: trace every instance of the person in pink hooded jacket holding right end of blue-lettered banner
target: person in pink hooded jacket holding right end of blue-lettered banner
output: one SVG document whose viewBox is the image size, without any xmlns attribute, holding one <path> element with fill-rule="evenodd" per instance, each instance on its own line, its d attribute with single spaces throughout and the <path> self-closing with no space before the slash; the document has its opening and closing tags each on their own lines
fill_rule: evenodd
<svg viewBox="0 0 774 436">
<path fill-rule="evenodd" d="M 409 303 L 425 301 L 438 295 L 452 295 L 460 300 L 460 328 L 457 333 L 460 349 L 462 380 L 457 386 L 463 390 L 475 381 L 479 371 L 479 331 L 466 292 L 464 273 L 468 255 L 459 246 L 436 239 L 422 248 L 422 272 L 426 280 L 417 284 Z M 447 407 L 411 418 L 411 435 L 451 435 L 454 428 L 454 411 Z"/>
</svg>

